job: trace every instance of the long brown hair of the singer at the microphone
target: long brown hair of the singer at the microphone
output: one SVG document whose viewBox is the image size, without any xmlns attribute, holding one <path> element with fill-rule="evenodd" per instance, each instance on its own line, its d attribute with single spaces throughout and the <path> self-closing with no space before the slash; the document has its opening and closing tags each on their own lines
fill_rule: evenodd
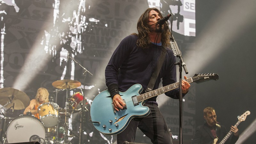
<svg viewBox="0 0 256 144">
<path fill-rule="evenodd" d="M 138 36 L 137 40 L 137 45 L 142 47 L 142 48 L 147 48 L 149 44 L 151 43 L 150 41 L 150 25 L 149 25 L 149 12 L 151 10 L 154 10 L 159 13 L 159 16 L 163 18 L 161 12 L 157 8 L 148 8 L 139 18 L 138 23 L 137 23 L 137 30 L 138 34 L 132 33 L 132 35 Z M 163 27 L 163 32 L 161 34 L 161 42 L 163 47 L 168 48 L 170 45 L 170 32 L 168 31 L 167 25 L 164 25 Z"/>
</svg>

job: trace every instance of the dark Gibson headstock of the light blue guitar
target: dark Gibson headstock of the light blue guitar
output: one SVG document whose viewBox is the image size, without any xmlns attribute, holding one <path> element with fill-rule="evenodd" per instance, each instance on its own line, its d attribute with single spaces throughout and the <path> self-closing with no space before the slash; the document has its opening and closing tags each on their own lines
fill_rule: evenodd
<svg viewBox="0 0 256 144">
<path fill-rule="evenodd" d="M 219 79 L 219 75 L 214 74 L 214 73 L 211 73 L 211 74 L 195 74 L 192 78 L 193 78 L 193 82 L 198 84 L 198 83 L 202 83 L 202 82 L 207 81 L 207 80 L 217 81 Z"/>
</svg>

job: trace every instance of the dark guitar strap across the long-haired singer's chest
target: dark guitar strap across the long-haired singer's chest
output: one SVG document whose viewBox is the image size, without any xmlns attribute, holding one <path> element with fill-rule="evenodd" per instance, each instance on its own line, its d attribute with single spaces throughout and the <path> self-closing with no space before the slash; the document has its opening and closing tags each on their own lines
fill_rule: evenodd
<svg viewBox="0 0 256 144">
<path fill-rule="evenodd" d="M 162 48 L 162 51 L 161 51 L 161 55 L 158 59 L 158 62 L 157 62 L 157 65 L 156 65 L 156 68 L 155 68 L 155 71 L 154 73 L 152 74 L 149 82 L 148 82 L 148 87 L 146 88 L 145 92 L 150 92 L 153 90 L 154 86 L 155 86 L 155 83 L 156 83 L 156 79 L 159 75 L 159 72 L 162 68 L 162 65 L 163 65 L 163 62 L 164 62 L 164 58 L 165 58 L 165 54 L 166 54 L 166 49 L 165 48 Z"/>
</svg>

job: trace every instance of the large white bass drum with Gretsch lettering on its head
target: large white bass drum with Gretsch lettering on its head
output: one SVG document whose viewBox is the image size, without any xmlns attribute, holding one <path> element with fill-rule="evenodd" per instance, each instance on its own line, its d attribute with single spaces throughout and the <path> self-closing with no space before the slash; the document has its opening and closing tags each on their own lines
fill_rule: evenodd
<svg viewBox="0 0 256 144">
<path fill-rule="evenodd" d="M 7 127 L 8 143 L 38 141 L 44 143 L 45 129 L 35 116 L 20 115 L 14 118 Z"/>
</svg>

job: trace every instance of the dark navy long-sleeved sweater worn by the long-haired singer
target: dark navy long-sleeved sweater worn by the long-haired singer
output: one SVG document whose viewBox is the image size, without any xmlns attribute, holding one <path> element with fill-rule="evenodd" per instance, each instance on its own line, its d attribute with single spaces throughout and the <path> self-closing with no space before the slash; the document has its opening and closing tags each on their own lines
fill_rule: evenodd
<svg viewBox="0 0 256 144">
<path fill-rule="evenodd" d="M 149 48 L 142 49 L 136 45 L 137 39 L 137 36 L 129 35 L 117 46 L 105 70 L 107 86 L 115 83 L 118 84 L 120 92 L 125 92 L 132 85 L 141 84 L 143 87 L 142 93 L 145 92 L 156 68 L 162 46 L 150 44 Z M 172 50 L 167 49 L 163 66 L 153 90 L 158 88 L 161 78 L 163 79 L 163 86 L 176 82 L 175 62 L 176 58 Z M 165 92 L 165 95 L 173 99 L 179 99 L 179 92 L 178 88 Z M 150 98 L 148 101 L 156 101 L 156 97 Z"/>
</svg>

